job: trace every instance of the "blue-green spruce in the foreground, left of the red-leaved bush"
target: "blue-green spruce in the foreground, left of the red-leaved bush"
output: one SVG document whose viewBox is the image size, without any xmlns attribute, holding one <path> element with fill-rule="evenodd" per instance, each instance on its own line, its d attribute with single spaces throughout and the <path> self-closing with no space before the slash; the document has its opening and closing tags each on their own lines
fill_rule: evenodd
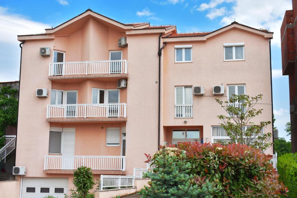
<svg viewBox="0 0 297 198">
<path fill-rule="evenodd" d="M 189 175 L 190 164 L 186 163 L 184 151 L 168 154 L 165 148 L 154 155 L 154 168 L 145 174 L 150 178 L 149 187 L 145 186 L 139 194 L 142 197 L 213 197 L 219 191 L 212 183 L 206 182 L 202 186 L 195 183 L 197 176 Z"/>
</svg>

